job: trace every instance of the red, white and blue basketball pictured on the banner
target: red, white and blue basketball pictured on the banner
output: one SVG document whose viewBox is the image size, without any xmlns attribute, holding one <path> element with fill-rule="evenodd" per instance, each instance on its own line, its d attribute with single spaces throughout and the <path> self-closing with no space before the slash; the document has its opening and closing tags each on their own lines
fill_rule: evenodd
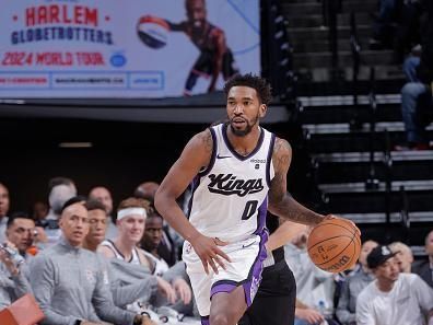
<svg viewBox="0 0 433 325">
<path fill-rule="evenodd" d="M 137 33 L 147 46 L 159 49 L 167 44 L 169 26 L 163 19 L 144 15 L 137 24 Z"/>
</svg>

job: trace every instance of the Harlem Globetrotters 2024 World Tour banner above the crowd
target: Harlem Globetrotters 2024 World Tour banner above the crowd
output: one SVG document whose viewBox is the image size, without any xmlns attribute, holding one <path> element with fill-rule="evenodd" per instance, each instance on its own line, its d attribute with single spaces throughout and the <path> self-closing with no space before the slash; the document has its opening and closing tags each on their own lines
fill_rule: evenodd
<svg viewBox="0 0 433 325">
<path fill-rule="evenodd" d="M 0 98 L 166 97 L 260 72 L 258 0 L 0 0 Z"/>
</svg>

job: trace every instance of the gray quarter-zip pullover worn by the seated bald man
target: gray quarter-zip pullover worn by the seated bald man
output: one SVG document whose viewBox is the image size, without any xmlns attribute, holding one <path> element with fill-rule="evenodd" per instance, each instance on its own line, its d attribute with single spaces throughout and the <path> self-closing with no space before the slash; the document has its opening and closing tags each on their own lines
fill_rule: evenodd
<svg viewBox="0 0 433 325">
<path fill-rule="evenodd" d="M 31 285 L 45 314 L 42 324 L 73 325 L 77 320 L 132 324 L 134 314 L 114 305 L 108 272 L 95 253 L 63 237 L 31 264 Z"/>
</svg>

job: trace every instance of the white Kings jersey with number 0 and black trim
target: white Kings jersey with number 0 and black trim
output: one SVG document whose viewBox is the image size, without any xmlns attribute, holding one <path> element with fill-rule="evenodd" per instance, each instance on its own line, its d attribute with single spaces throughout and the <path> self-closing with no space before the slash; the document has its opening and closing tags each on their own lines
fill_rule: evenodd
<svg viewBox="0 0 433 325">
<path fill-rule="evenodd" d="M 210 128 L 212 156 L 192 181 L 189 221 L 204 235 L 233 242 L 266 227 L 274 135 L 260 128 L 257 147 L 243 156 L 230 143 L 226 128 Z"/>
</svg>

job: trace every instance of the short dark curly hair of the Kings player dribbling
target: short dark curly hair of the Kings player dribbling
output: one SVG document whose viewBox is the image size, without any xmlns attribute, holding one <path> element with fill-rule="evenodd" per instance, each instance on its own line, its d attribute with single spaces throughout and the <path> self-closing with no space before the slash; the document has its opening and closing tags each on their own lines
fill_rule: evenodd
<svg viewBox="0 0 433 325">
<path fill-rule="evenodd" d="M 245 85 L 256 90 L 261 104 L 268 105 L 272 100 L 272 88 L 270 83 L 259 76 L 253 73 L 235 74 L 224 85 L 225 96 L 233 86 Z"/>
</svg>

